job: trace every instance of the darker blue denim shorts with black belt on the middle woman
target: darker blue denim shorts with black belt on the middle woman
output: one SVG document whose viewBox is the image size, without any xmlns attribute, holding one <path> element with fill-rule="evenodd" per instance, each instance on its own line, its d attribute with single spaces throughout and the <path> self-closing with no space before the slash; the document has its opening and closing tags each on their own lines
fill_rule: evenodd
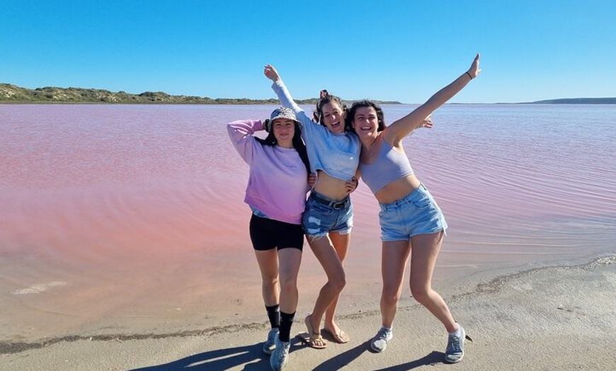
<svg viewBox="0 0 616 371">
<path fill-rule="evenodd" d="M 326 236 L 328 232 L 349 234 L 353 228 L 353 205 L 350 198 L 331 200 L 314 190 L 306 201 L 302 226 L 307 237 Z"/>
</svg>

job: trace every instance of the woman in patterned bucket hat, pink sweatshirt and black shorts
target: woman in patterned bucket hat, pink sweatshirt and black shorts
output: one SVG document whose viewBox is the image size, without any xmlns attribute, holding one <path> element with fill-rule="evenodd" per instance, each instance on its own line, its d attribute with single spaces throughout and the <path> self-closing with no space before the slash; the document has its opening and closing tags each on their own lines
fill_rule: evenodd
<svg viewBox="0 0 616 371">
<path fill-rule="evenodd" d="M 266 139 L 254 135 L 261 130 L 268 132 Z M 227 131 L 250 166 L 244 202 L 252 210 L 250 237 L 271 325 L 263 352 L 271 354 L 273 370 L 282 370 L 297 309 L 297 274 L 304 245 L 302 212 L 311 183 L 306 147 L 300 122 L 289 108 L 275 109 L 265 121 L 231 122 Z"/>
</svg>

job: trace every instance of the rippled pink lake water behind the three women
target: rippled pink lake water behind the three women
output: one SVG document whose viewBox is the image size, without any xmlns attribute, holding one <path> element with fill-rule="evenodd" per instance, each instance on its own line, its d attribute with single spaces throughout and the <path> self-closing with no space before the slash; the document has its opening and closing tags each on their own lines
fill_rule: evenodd
<svg viewBox="0 0 616 371">
<path fill-rule="evenodd" d="M 266 321 L 248 167 L 225 125 L 273 108 L 0 105 L 0 342 Z M 413 108 L 385 105 L 386 121 Z M 616 253 L 616 105 L 446 105 L 433 120 L 404 144 L 450 225 L 444 296 Z M 341 315 L 378 310 L 381 285 L 378 206 L 363 183 L 352 198 Z M 298 313 L 323 282 L 306 246 Z"/>
</svg>

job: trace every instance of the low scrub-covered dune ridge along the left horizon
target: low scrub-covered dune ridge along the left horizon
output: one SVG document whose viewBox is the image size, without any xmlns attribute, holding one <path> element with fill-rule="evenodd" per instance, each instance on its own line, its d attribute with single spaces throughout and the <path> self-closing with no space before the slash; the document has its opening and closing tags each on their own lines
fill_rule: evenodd
<svg viewBox="0 0 616 371">
<path fill-rule="evenodd" d="M 296 100 L 297 104 L 312 105 L 317 98 Z M 130 94 L 125 91 L 108 91 L 103 89 L 83 88 L 45 88 L 26 89 L 11 84 L 0 84 L 0 103 L 135 103 L 135 104 L 272 104 L 278 105 L 278 99 L 249 98 L 207 98 L 199 96 L 171 96 L 162 91 L 145 91 Z M 394 101 L 379 103 L 400 104 Z"/>
</svg>

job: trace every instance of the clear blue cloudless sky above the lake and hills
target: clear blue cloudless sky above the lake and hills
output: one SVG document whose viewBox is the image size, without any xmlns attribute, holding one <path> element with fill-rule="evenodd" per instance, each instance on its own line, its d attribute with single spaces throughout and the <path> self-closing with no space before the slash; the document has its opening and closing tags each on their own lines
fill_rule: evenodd
<svg viewBox="0 0 616 371">
<path fill-rule="evenodd" d="M 616 97 L 615 0 L 0 0 L 0 82 L 210 98 Z"/>
</svg>

